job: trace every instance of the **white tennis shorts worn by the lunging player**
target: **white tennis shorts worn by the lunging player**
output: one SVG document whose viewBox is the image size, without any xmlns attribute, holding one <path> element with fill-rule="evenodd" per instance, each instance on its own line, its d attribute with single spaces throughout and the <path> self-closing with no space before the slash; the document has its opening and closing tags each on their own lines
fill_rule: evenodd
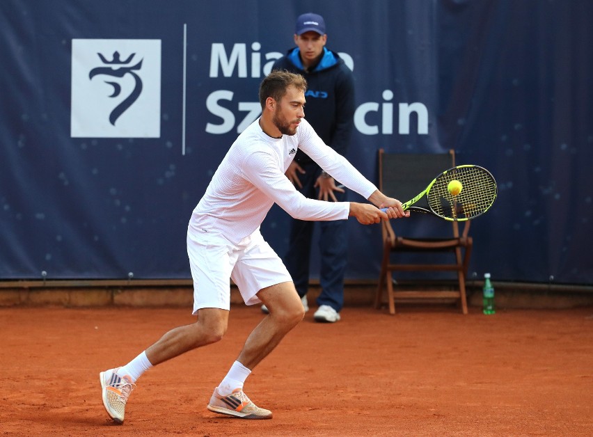
<svg viewBox="0 0 593 437">
<path fill-rule="evenodd" d="M 239 244 L 222 235 L 188 228 L 187 255 L 193 278 L 193 314 L 200 308 L 230 310 L 230 279 L 246 305 L 260 303 L 260 289 L 292 281 L 274 249 L 256 230 Z"/>
</svg>

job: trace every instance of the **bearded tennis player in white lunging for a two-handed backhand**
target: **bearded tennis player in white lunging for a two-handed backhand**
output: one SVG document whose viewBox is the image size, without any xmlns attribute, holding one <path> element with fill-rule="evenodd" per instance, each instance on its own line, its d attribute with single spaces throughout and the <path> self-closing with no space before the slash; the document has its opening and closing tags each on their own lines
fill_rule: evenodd
<svg viewBox="0 0 593 437">
<path fill-rule="evenodd" d="M 274 202 L 300 220 L 354 216 L 369 225 L 381 218 L 409 216 L 399 200 L 377 190 L 317 136 L 304 118 L 306 86 L 301 75 L 285 71 L 271 72 L 260 84 L 262 116 L 231 145 L 189 221 L 187 253 L 197 321 L 164 334 L 127 365 L 100 373 L 103 404 L 114 422 L 124 421 L 136 380 L 150 367 L 222 339 L 230 310 L 229 278 L 246 305 L 264 303 L 269 315 L 248 336 L 207 408 L 244 419 L 272 417 L 271 411 L 255 406 L 245 395 L 244 382 L 304 316 L 290 274 L 260 234 Z M 370 203 L 304 197 L 284 174 L 299 148 Z M 381 207 L 388 209 L 381 212 Z"/>
</svg>

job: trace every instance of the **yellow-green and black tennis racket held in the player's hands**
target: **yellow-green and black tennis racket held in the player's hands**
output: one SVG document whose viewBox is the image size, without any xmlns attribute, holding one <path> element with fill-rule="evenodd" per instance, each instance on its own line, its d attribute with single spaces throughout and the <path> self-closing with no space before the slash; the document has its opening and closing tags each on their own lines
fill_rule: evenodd
<svg viewBox="0 0 593 437">
<path fill-rule="evenodd" d="M 448 189 L 453 180 L 461 182 L 461 191 L 456 195 Z M 448 221 L 466 221 L 487 212 L 496 200 L 496 193 L 496 180 L 486 168 L 457 166 L 443 171 L 422 193 L 402 204 L 402 207 L 404 211 L 427 212 Z M 427 198 L 429 209 L 413 206 L 423 196 Z"/>
</svg>

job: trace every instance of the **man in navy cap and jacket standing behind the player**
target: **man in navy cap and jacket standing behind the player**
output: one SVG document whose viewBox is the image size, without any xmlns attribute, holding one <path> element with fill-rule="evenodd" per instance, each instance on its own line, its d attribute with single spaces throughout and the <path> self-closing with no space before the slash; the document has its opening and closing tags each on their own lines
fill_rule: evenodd
<svg viewBox="0 0 593 437">
<path fill-rule="evenodd" d="M 294 32 L 297 47 L 278 59 L 272 70 L 299 73 L 308 83 L 307 120 L 324 143 L 346 156 L 354 127 L 354 77 L 337 53 L 326 49 L 325 21 L 321 15 L 307 13 L 297 19 Z M 286 171 L 288 179 L 308 198 L 344 202 L 347 192 L 340 182 L 322 171 L 299 150 Z M 315 222 L 290 219 L 289 250 L 284 263 L 308 310 L 310 251 Z M 321 257 L 319 282 L 322 292 L 317 299 L 316 321 L 340 320 L 344 305 L 344 276 L 347 264 L 347 226 L 345 220 L 319 222 Z M 267 312 L 265 306 L 262 307 Z"/>
</svg>

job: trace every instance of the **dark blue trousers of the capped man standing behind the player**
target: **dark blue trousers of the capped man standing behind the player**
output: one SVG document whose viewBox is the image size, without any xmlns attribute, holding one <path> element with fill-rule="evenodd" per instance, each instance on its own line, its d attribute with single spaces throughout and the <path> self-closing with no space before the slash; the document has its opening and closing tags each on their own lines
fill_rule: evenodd
<svg viewBox="0 0 593 437">
<path fill-rule="evenodd" d="M 317 199 L 318 190 L 315 181 L 321 170 L 317 164 L 302 166 L 306 171 L 299 175 L 303 188 L 299 189 L 303 196 Z M 336 185 L 339 182 L 335 182 Z M 298 187 L 297 187 L 298 188 Z M 334 191 L 340 202 L 347 200 L 347 193 Z M 299 296 L 307 294 L 309 285 L 309 267 L 311 248 L 313 246 L 313 230 L 319 225 L 319 283 L 322 288 L 317 305 L 329 305 L 340 311 L 344 305 L 344 276 L 347 264 L 348 235 L 347 220 L 335 221 L 303 221 L 291 218 L 290 241 L 284 257 L 286 265 Z"/>
</svg>

